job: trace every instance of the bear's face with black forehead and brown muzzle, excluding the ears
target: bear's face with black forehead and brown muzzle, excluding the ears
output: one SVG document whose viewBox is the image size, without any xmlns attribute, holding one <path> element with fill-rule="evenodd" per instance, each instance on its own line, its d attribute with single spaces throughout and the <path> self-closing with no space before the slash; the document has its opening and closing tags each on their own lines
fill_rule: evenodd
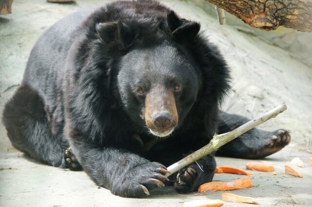
<svg viewBox="0 0 312 207">
<path fill-rule="evenodd" d="M 176 45 L 163 42 L 131 50 L 117 76 L 121 102 L 136 122 L 152 134 L 170 135 L 196 101 L 199 74 Z"/>
</svg>

